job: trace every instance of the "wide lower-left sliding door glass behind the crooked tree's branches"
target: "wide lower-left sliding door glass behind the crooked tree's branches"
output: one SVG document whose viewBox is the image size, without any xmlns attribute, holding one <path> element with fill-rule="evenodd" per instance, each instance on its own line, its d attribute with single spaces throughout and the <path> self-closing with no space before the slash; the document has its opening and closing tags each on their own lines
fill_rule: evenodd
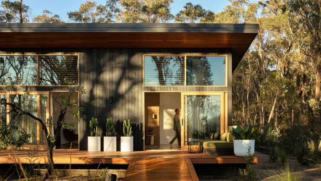
<svg viewBox="0 0 321 181">
<path fill-rule="evenodd" d="M 22 110 L 30 112 L 37 116 L 37 95 L 11 95 L 10 101 L 16 103 Z M 11 113 L 11 119 L 15 119 L 13 123 L 20 124 L 24 131 L 34 136 L 30 138 L 31 144 L 37 144 L 37 121 L 27 115 L 18 115 Z M 19 126 L 20 128 L 20 126 Z M 18 136 L 18 133 L 14 133 Z"/>
</svg>

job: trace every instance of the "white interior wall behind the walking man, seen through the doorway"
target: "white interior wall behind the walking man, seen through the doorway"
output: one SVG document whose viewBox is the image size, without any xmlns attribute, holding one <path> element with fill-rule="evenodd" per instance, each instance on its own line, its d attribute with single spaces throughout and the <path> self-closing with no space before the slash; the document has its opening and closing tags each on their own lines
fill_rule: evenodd
<svg viewBox="0 0 321 181">
<path fill-rule="evenodd" d="M 177 92 L 160 93 L 160 144 L 167 145 L 174 137 L 173 118 L 175 109 L 181 109 L 181 94 Z M 173 145 L 178 145 L 175 139 Z"/>
</svg>

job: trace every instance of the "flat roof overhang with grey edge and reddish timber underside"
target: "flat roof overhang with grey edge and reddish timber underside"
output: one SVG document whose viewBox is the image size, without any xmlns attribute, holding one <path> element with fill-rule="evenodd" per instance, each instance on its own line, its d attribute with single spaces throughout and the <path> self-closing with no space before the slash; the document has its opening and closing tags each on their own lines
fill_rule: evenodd
<svg viewBox="0 0 321 181">
<path fill-rule="evenodd" d="M 258 24 L 0 24 L 0 48 L 230 48 L 232 71 Z"/>
</svg>

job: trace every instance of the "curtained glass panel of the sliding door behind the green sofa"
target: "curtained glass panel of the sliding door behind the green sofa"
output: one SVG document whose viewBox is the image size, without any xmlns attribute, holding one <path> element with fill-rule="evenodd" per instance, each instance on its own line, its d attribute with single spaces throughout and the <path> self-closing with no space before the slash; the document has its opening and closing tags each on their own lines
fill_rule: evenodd
<svg viewBox="0 0 321 181">
<path fill-rule="evenodd" d="M 203 139 L 211 132 L 220 132 L 221 96 L 187 96 L 186 113 L 188 138 Z"/>
</svg>

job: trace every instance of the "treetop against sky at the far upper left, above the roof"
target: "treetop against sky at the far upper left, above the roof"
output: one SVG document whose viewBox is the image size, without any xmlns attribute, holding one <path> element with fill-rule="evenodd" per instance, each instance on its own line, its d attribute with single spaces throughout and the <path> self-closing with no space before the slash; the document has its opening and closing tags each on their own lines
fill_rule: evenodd
<svg viewBox="0 0 321 181">
<path fill-rule="evenodd" d="M 22 0 L 1 0 L 0 8 L 0 23 L 29 23 L 31 8 Z"/>
</svg>

